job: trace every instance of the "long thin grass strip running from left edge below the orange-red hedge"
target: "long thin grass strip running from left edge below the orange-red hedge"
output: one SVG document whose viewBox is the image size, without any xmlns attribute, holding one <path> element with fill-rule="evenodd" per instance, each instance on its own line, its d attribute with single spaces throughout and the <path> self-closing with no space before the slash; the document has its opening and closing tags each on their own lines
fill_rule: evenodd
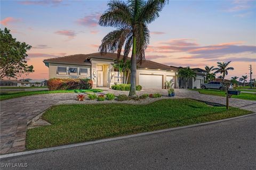
<svg viewBox="0 0 256 170">
<path fill-rule="evenodd" d="M 50 94 L 50 93 L 97 93 L 102 92 L 101 89 L 88 89 L 88 90 L 57 90 L 57 91 L 20 91 L 20 92 L 6 92 L 2 93 L 0 95 L 0 101 L 7 100 L 7 99 L 13 99 L 13 98 L 19 98 L 23 96 L 28 95 L 36 95 L 36 94 Z"/>
</svg>

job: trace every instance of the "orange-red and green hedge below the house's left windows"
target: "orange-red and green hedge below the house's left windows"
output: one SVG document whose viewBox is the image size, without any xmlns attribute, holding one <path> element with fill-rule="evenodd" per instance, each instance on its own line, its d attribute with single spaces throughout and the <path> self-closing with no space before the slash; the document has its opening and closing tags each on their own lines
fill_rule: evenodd
<svg viewBox="0 0 256 170">
<path fill-rule="evenodd" d="M 52 90 L 76 90 L 91 89 L 93 82 L 91 79 L 71 79 L 71 78 L 51 78 L 47 82 L 50 91 Z"/>
</svg>

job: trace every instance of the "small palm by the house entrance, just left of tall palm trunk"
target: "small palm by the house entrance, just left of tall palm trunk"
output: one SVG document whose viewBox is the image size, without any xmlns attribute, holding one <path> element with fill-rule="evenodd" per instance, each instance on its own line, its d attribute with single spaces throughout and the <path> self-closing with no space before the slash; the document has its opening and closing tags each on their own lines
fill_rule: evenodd
<svg viewBox="0 0 256 170">
<path fill-rule="evenodd" d="M 123 83 L 127 84 L 129 75 L 131 74 L 131 60 L 127 60 L 126 62 L 124 60 L 115 60 L 113 67 L 119 72 L 123 72 Z"/>
</svg>

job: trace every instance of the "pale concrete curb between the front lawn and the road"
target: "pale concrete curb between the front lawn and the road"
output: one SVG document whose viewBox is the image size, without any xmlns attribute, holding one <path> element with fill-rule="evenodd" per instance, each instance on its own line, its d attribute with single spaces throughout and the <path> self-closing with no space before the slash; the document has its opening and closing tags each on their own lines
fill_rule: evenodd
<svg viewBox="0 0 256 170">
<path fill-rule="evenodd" d="M 228 120 L 243 118 L 243 117 L 252 116 L 252 115 L 256 115 L 256 112 L 254 112 L 253 114 L 249 114 L 249 115 L 243 115 L 243 116 L 232 117 L 232 118 L 227 118 L 227 119 L 215 120 L 215 121 L 212 121 L 212 122 L 205 122 L 205 123 L 199 123 L 199 124 L 194 124 L 194 125 L 187 125 L 187 126 L 180 126 L 180 127 L 162 129 L 162 130 L 153 131 L 153 132 L 145 132 L 145 133 L 139 133 L 139 134 L 133 134 L 133 135 L 127 135 L 127 136 L 112 137 L 112 138 L 108 138 L 108 139 L 102 139 L 102 140 L 90 141 L 90 142 L 83 142 L 83 143 L 67 144 L 67 145 L 61 145 L 59 147 L 51 147 L 51 148 L 45 148 L 45 149 L 37 149 L 37 150 L 9 153 L 9 154 L 5 154 L 5 155 L 0 155 L 0 158 L 16 157 L 16 156 L 28 155 L 28 154 L 31 154 L 31 153 L 40 153 L 40 152 L 53 151 L 53 150 L 59 150 L 59 149 L 65 149 L 65 148 L 73 148 L 73 147 L 79 147 L 79 146 L 89 145 L 89 144 L 96 144 L 96 143 L 102 143 L 102 142 L 122 140 L 122 139 L 127 139 L 127 138 L 130 138 L 130 137 L 137 137 L 137 136 L 144 136 L 144 135 L 150 135 L 150 134 L 156 134 L 156 133 L 162 133 L 162 132 L 175 131 L 175 130 L 178 130 L 178 129 L 184 129 L 184 128 L 204 126 L 204 125 L 210 125 L 210 124 L 225 122 L 225 121 L 228 121 Z"/>
</svg>

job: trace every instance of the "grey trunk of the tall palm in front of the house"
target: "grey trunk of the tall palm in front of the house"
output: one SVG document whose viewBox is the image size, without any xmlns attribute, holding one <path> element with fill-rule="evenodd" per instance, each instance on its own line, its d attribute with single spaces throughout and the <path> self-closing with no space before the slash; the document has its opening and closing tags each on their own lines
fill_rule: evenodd
<svg viewBox="0 0 256 170">
<path fill-rule="evenodd" d="M 131 89 L 129 96 L 136 96 L 136 71 L 137 71 L 137 55 L 136 55 L 136 38 L 133 36 L 132 44 L 132 65 L 131 65 Z"/>
</svg>

